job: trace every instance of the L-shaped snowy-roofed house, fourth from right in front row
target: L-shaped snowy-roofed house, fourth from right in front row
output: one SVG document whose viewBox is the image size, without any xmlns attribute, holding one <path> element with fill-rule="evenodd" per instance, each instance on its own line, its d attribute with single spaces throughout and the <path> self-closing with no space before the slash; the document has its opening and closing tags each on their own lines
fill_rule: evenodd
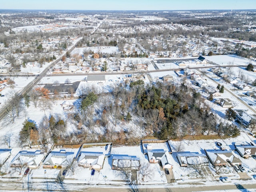
<svg viewBox="0 0 256 192">
<path fill-rule="evenodd" d="M 170 154 L 163 149 L 148 150 L 148 160 L 150 163 L 161 162 L 163 169 L 172 168 Z"/>
</svg>

